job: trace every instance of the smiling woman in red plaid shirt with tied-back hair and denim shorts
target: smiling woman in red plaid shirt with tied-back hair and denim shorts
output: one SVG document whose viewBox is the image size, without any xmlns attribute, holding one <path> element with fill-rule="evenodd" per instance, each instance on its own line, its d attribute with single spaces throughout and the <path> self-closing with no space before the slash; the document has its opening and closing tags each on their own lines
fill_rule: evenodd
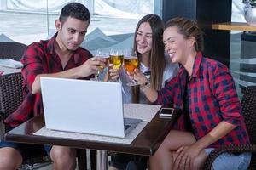
<svg viewBox="0 0 256 170">
<path fill-rule="evenodd" d="M 169 20 L 163 41 L 172 62 L 181 65 L 177 77 L 159 91 L 151 88 L 141 71 L 134 78 L 151 102 L 181 108 L 183 115 L 149 158 L 150 169 L 201 169 L 214 148 L 249 144 L 230 71 L 218 61 L 202 57 L 203 37 L 195 21 Z M 247 169 L 250 159 L 250 153 L 224 153 L 212 168 Z"/>
</svg>

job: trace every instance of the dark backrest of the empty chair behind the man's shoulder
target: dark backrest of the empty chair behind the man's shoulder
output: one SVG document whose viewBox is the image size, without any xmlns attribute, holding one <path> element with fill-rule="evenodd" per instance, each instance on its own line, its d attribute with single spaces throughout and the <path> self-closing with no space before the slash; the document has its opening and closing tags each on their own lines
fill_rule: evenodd
<svg viewBox="0 0 256 170">
<path fill-rule="evenodd" d="M 26 47 L 25 44 L 20 42 L 0 42 L 0 59 L 15 59 L 20 61 Z"/>
</svg>

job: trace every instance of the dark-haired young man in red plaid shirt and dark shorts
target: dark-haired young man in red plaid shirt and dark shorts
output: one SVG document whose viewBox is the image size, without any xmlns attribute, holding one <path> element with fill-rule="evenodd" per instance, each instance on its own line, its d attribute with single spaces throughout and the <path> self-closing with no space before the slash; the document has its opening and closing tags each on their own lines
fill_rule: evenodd
<svg viewBox="0 0 256 170">
<path fill-rule="evenodd" d="M 55 36 L 47 41 L 34 42 L 27 48 L 21 59 L 24 65 L 21 71 L 24 101 L 4 121 L 7 127 L 16 127 L 32 116 L 43 114 L 40 77 L 89 79 L 96 74 L 99 65 L 105 65 L 104 59 L 92 58 L 89 51 L 79 47 L 89 24 L 88 9 L 80 3 L 69 3 L 61 9 L 60 18 L 55 21 Z M 113 79 L 119 77 L 118 71 L 111 72 Z M 0 170 L 20 167 L 22 157 L 32 148 L 32 144 L 0 143 Z M 45 145 L 44 149 L 54 162 L 54 169 L 75 169 L 76 150 L 55 145 Z"/>
</svg>

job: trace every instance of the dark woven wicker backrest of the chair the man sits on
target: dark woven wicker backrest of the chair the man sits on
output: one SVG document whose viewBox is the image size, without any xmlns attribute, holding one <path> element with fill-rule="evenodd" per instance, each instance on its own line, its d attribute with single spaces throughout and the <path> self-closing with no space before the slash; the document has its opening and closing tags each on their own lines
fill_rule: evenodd
<svg viewBox="0 0 256 170">
<path fill-rule="evenodd" d="M 3 119 L 13 113 L 23 100 L 21 73 L 0 76 L 0 111 Z"/>
</svg>

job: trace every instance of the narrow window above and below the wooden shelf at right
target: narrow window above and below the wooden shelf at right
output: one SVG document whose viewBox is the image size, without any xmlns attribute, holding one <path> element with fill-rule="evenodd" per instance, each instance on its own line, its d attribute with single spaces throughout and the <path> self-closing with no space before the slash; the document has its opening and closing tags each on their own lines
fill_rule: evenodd
<svg viewBox="0 0 256 170">
<path fill-rule="evenodd" d="M 232 22 L 246 22 L 244 4 L 233 0 Z M 241 89 L 256 85 L 256 32 L 231 31 L 230 72 L 236 82 L 236 90 L 241 98 Z"/>
</svg>

